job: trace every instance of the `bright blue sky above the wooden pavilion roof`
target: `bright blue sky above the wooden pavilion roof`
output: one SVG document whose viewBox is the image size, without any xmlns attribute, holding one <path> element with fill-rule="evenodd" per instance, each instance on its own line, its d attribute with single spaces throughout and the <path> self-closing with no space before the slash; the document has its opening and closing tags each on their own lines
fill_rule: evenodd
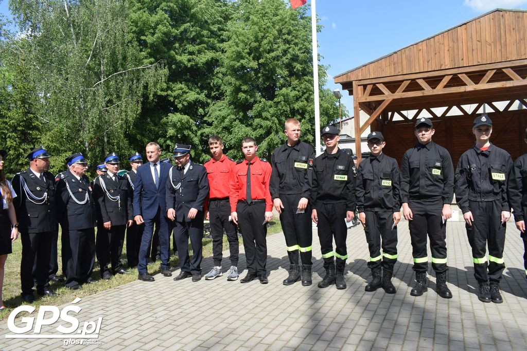
<svg viewBox="0 0 527 351">
<path fill-rule="evenodd" d="M 311 0 L 308 0 L 308 4 Z M 318 53 L 329 66 L 331 90 L 341 87 L 333 77 L 397 49 L 443 32 L 494 8 L 527 9 L 527 0 L 316 0 Z M 7 0 L 0 0 L 7 14 Z M 342 103 L 353 110 L 353 99 Z"/>
</svg>

